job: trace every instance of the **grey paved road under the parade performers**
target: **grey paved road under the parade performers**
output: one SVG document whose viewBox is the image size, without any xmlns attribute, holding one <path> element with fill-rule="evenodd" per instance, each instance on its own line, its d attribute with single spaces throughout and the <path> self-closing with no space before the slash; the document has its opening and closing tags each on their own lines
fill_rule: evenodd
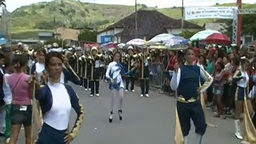
<svg viewBox="0 0 256 144">
<path fill-rule="evenodd" d="M 73 86 L 73 85 L 72 85 Z M 86 118 L 82 130 L 74 144 L 173 144 L 174 143 L 174 108 L 175 99 L 150 91 L 150 98 L 140 98 L 140 90 L 126 92 L 123 109 L 123 121 L 119 122 L 115 111 L 114 122 L 109 123 L 110 90 L 106 83 L 100 85 L 99 98 L 89 97 L 78 86 L 73 86 L 82 100 Z M 74 112 L 72 112 L 74 116 Z M 203 139 L 204 144 L 238 144 L 234 138 L 234 121 L 213 118 L 207 111 L 210 122 L 217 128 L 208 127 Z M 72 118 L 71 124 L 74 122 Z M 190 141 L 194 143 L 194 126 L 190 132 Z M 18 144 L 24 143 L 23 134 Z"/>
</svg>

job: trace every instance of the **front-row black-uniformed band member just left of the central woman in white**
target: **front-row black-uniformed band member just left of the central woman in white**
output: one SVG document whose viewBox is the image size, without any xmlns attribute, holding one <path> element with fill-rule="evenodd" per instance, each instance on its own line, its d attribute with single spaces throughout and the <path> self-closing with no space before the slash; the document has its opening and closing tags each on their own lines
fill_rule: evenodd
<svg viewBox="0 0 256 144">
<path fill-rule="evenodd" d="M 90 97 L 94 96 L 96 91 L 96 96 L 99 97 L 99 77 L 100 77 L 100 61 L 103 58 L 102 54 L 98 53 L 98 49 L 94 46 L 91 49 L 90 56 Z"/>
</svg>

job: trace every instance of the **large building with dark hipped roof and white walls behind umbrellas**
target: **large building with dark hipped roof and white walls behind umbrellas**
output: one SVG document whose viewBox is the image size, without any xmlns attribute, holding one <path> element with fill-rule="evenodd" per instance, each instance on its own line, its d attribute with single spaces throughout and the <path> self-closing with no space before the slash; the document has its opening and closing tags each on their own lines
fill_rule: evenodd
<svg viewBox="0 0 256 144">
<path fill-rule="evenodd" d="M 150 40 L 155 35 L 181 34 L 182 20 L 170 18 L 157 10 L 138 10 L 138 38 Z M 97 42 L 123 42 L 135 38 L 135 13 L 98 32 Z M 184 21 L 183 30 L 202 30 L 202 26 Z"/>
</svg>

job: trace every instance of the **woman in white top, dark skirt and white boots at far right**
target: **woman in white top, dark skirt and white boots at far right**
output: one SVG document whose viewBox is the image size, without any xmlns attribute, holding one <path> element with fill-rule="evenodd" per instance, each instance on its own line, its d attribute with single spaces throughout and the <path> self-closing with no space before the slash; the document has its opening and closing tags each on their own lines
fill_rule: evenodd
<svg viewBox="0 0 256 144">
<path fill-rule="evenodd" d="M 237 90 L 235 92 L 235 136 L 238 139 L 242 139 L 242 133 L 240 129 L 240 115 L 242 114 L 242 108 L 244 103 L 244 97 L 248 94 L 247 86 L 249 84 L 249 75 L 246 72 L 246 67 L 249 65 L 249 60 L 246 57 L 240 58 L 240 66 L 233 76 L 233 83 L 236 84 Z"/>
</svg>

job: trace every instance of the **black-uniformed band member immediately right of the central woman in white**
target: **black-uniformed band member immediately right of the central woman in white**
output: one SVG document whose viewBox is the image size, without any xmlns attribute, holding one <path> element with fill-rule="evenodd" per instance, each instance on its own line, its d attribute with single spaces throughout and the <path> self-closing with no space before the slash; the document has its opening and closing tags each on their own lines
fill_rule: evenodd
<svg viewBox="0 0 256 144">
<path fill-rule="evenodd" d="M 128 54 L 125 56 L 126 61 L 126 70 L 130 71 L 131 69 L 136 66 L 136 59 L 134 58 L 134 48 L 133 46 L 128 47 Z M 129 83 L 130 83 L 130 91 L 134 92 L 134 78 L 135 78 L 135 71 L 128 74 L 126 76 L 126 91 L 129 90 Z"/>
</svg>

